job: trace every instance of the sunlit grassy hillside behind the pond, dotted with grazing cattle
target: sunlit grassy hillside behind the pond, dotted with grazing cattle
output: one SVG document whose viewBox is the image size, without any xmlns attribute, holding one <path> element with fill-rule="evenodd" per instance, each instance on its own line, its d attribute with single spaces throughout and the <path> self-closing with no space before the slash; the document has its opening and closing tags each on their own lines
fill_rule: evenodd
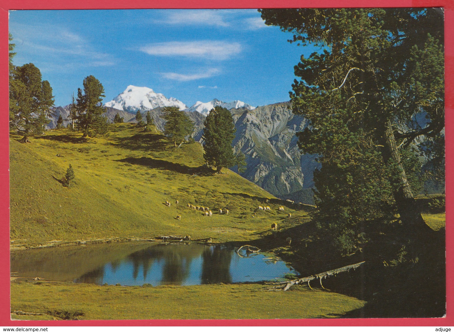
<svg viewBox="0 0 454 332">
<path fill-rule="evenodd" d="M 30 144 L 19 140 L 10 135 L 13 245 L 162 234 L 242 241 L 262 236 L 273 222 L 285 227 L 289 219 L 306 217 L 287 207 L 277 211 L 277 200 L 266 204 L 271 212 L 254 215 L 270 193 L 225 168 L 224 174 L 208 173 L 201 144 L 175 149 L 156 130 L 116 124 L 104 138 L 84 140 L 55 129 Z M 75 179 L 66 188 L 60 179 L 69 164 Z M 188 203 L 209 207 L 212 217 Z M 219 208 L 230 213 L 221 215 Z"/>
</svg>

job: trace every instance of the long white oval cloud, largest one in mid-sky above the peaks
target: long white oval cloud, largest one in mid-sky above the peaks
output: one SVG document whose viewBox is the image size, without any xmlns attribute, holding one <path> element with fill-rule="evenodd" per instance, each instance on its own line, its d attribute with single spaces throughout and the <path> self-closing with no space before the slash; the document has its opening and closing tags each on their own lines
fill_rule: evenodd
<svg viewBox="0 0 454 332">
<path fill-rule="evenodd" d="M 158 56 L 186 56 L 225 60 L 241 52 L 239 43 L 229 43 L 216 40 L 200 41 L 170 41 L 155 43 L 140 49 L 149 55 Z"/>
</svg>

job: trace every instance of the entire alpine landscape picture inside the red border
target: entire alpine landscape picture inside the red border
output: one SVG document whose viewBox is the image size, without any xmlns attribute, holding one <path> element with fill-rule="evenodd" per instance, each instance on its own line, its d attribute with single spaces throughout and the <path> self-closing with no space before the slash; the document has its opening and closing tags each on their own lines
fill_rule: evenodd
<svg viewBox="0 0 454 332">
<path fill-rule="evenodd" d="M 9 26 L 11 319 L 446 314 L 441 8 Z"/>
</svg>

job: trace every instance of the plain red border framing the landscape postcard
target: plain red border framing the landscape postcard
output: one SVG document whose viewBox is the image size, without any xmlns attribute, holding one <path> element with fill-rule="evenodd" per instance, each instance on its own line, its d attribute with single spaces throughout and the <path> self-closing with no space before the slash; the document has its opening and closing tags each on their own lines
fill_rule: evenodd
<svg viewBox="0 0 454 332">
<path fill-rule="evenodd" d="M 297 8 L 297 7 L 443 7 L 445 13 L 446 91 L 446 295 L 443 318 L 339 318 L 339 319 L 244 319 L 244 320 L 110 320 L 110 321 L 11 321 L 9 242 L 9 131 L 8 131 L 8 11 L 58 9 L 145 9 L 145 8 Z M 454 2 L 453 0 L 2 0 L 0 5 L 0 326 L 454 326 L 453 275 L 454 228 L 450 226 L 454 174 Z M 290 84 L 291 82 L 289 82 Z M 289 85 L 290 86 L 290 85 Z"/>
</svg>

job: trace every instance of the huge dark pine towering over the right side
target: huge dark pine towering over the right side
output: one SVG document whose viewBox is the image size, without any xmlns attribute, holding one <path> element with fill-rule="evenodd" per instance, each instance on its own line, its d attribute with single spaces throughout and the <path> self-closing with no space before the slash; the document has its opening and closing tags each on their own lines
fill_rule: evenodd
<svg viewBox="0 0 454 332">
<path fill-rule="evenodd" d="M 300 147 L 322 163 L 322 227 L 337 228 L 351 248 L 364 243 L 359 229 L 378 232 L 396 215 L 409 237 L 424 233 L 411 149 L 418 137 L 444 146 L 443 16 L 420 8 L 260 11 L 267 25 L 293 33 L 291 42 L 323 50 L 301 56 L 291 92 L 293 113 L 311 122 Z M 434 151 L 444 164 L 443 149 Z"/>
</svg>

